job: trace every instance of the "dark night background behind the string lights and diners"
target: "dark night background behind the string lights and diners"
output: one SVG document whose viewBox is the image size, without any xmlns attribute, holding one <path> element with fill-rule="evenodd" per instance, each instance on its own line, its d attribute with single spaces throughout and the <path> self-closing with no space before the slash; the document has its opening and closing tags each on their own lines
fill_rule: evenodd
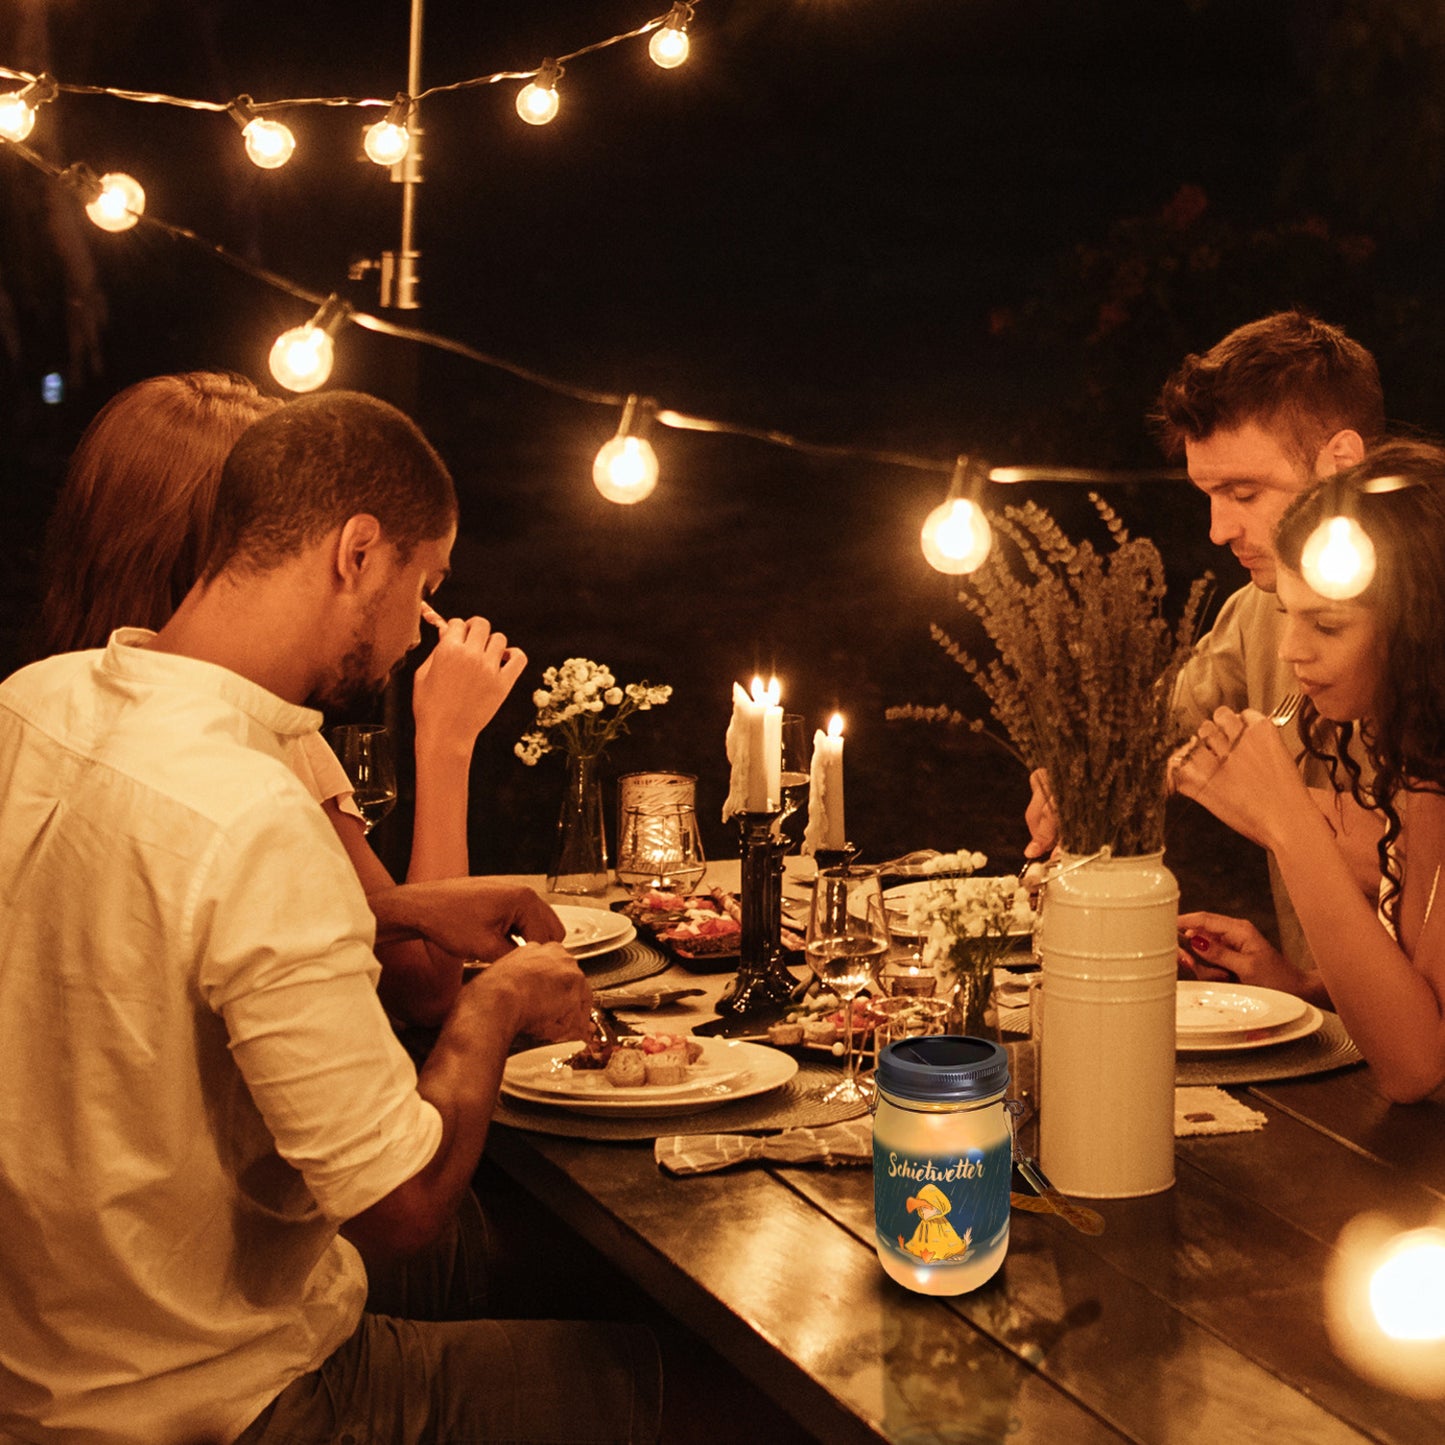
<svg viewBox="0 0 1445 1445">
<path fill-rule="evenodd" d="M 429 0 L 423 84 L 535 69 L 665 9 Z M 406 82 L 407 10 L 17 0 L 0 64 L 217 101 L 387 98 Z M 478 746 L 478 871 L 546 866 L 561 766 L 510 749 L 540 668 L 571 655 L 673 683 L 607 773 L 695 772 L 714 854 L 736 845 L 717 818 L 730 686 L 762 669 L 811 725 L 847 715 L 867 854 L 964 845 L 1016 866 L 1017 764 L 883 718 L 894 702 L 981 708 L 929 640 L 932 620 L 967 629 L 916 545 L 951 460 L 1157 465 L 1144 413 L 1179 357 L 1296 303 L 1376 350 L 1393 418 L 1445 420 L 1445 17 L 1425 0 L 701 0 L 676 71 L 644 40 L 572 61 L 540 129 L 517 120 L 517 84 L 426 101 L 423 306 L 392 319 L 587 390 L 938 470 L 663 431 L 657 491 L 614 507 L 590 486 L 614 407 L 348 327 L 332 384 L 412 410 L 455 471 L 445 607 L 490 617 L 533 660 Z M 150 214 L 377 311 L 374 279 L 347 272 L 397 246 L 399 188 L 358 160 L 354 108 L 286 118 L 301 150 L 279 172 L 244 160 L 224 114 L 108 97 L 62 95 L 32 143 L 131 171 Z M 270 384 L 270 341 L 311 308 L 144 227 L 84 224 L 66 249 L 56 217 L 75 202 L 4 147 L 0 197 L 9 670 L 49 500 L 101 402 L 198 366 Z M 94 267 L 90 354 L 66 328 L 77 256 Z M 68 376 L 61 406 L 39 402 L 48 371 Z M 1029 493 L 1087 527 L 1077 488 Z M 1159 542 L 1178 598 L 1205 568 L 1220 595 L 1243 581 L 1188 487 L 1110 500 Z M 403 855 L 405 809 L 374 837 Z M 1256 909 L 1253 861 L 1196 809 L 1175 814 L 1169 848 L 1186 906 Z"/>
</svg>

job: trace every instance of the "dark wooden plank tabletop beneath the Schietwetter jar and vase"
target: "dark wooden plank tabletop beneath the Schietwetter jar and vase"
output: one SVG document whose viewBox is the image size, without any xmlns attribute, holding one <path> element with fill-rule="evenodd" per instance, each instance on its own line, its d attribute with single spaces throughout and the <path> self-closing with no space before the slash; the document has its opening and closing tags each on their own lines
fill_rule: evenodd
<svg viewBox="0 0 1445 1445">
<path fill-rule="evenodd" d="M 1016 1211 L 955 1299 L 884 1276 L 867 1169 L 676 1179 L 650 1143 L 501 1127 L 487 1152 L 822 1441 L 1438 1445 L 1445 1405 L 1342 1364 L 1324 1292 L 1351 1218 L 1442 1211 L 1445 1111 L 1366 1068 L 1233 1092 L 1263 1130 L 1178 1140 L 1173 1189 L 1097 1202 L 1095 1238 Z"/>
</svg>

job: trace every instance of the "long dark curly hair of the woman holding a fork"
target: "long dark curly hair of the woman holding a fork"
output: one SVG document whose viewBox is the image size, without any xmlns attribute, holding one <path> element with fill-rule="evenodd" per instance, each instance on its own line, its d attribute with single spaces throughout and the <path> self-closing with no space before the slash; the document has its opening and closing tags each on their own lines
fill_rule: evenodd
<svg viewBox="0 0 1445 1445">
<path fill-rule="evenodd" d="M 1274 529 L 1279 561 L 1292 572 L 1311 533 L 1348 512 L 1374 545 L 1374 577 L 1358 601 L 1377 618 L 1384 643 L 1381 696 L 1360 728 L 1374 770 L 1361 783 L 1350 757 L 1353 725 L 1332 725 L 1306 699 L 1299 727 L 1305 746 L 1344 767 L 1357 802 L 1386 818 L 1380 840 L 1384 909 L 1396 922 L 1402 874 L 1393 855 L 1400 834 L 1394 799 L 1402 792 L 1445 792 L 1445 449 L 1390 441 L 1364 461 L 1298 497 Z"/>
</svg>

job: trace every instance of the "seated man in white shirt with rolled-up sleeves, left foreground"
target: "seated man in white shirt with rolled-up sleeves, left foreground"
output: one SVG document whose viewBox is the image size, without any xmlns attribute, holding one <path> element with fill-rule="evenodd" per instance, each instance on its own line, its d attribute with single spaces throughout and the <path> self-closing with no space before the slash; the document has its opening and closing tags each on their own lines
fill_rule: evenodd
<svg viewBox="0 0 1445 1445">
<path fill-rule="evenodd" d="M 501 957 L 418 1077 L 377 933 L 494 957 L 473 879 L 371 896 L 285 762 L 381 686 L 447 575 L 451 478 L 328 393 L 228 460 L 159 633 L 0 685 L 0 1435 L 649 1439 L 642 1329 L 364 1312 L 454 1228 L 513 1038 L 578 1038 L 556 944 Z M 373 916 L 374 912 L 374 916 Z"/>
</svg>

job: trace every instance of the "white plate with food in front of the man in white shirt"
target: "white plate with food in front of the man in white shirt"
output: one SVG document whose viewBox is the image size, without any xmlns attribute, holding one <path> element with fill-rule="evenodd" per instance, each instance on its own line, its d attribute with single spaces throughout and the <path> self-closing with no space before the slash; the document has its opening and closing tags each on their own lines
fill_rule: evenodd
<svg viewBox="0 0 1445 1445">
<path fill-rule="evenodd" d="M 575 1114 L 696 1114 L 718 1104 L 751 1098 L 786 1084 L 798 1072 L 798 1061 L 779 1049 L 738 1039 L 696 1039 L 702 1058 L 689 1069 L 686 1084 L 643 1084 L 616 1088 L 601 1069 L 568 1069 L 581 1043 L 545 1043 L 507 1059 L 501 1092 L 527 1104 L 551 1104 Z M 556 1071 L 565 1069 L 571 1079 Z"/>
</svg>

